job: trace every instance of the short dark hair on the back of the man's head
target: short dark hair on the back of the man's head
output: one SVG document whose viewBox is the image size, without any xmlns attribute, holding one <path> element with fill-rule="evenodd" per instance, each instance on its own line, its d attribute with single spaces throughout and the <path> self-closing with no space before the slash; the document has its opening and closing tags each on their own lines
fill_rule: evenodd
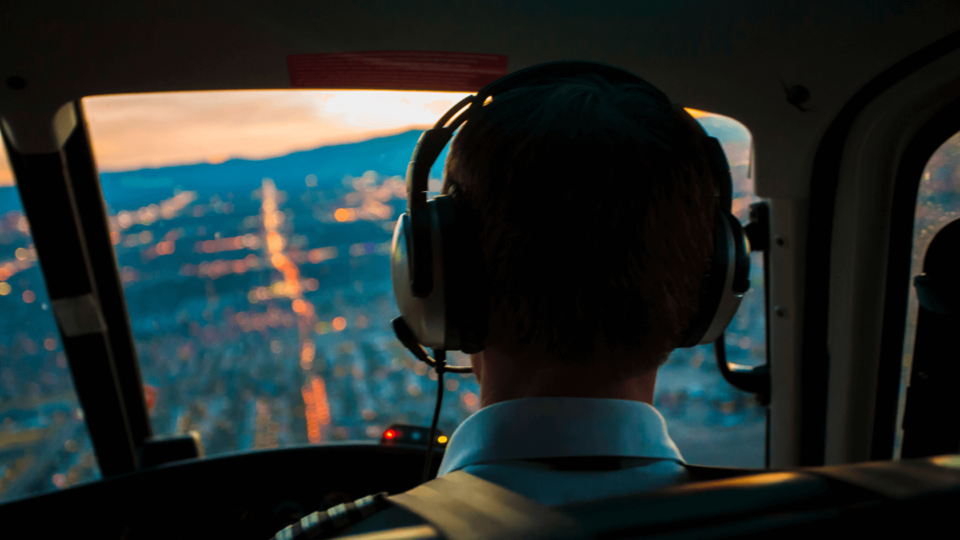
<svg viewBox="0 0 960 540">
<path fill-rule="evenodd" d="M 714 180 L 694 129 L 636 84 L 516 88 L 451 143 L 486 265 L 494 344 L 517 358 L 658 367 L 697 311 Z"/>
</svg>

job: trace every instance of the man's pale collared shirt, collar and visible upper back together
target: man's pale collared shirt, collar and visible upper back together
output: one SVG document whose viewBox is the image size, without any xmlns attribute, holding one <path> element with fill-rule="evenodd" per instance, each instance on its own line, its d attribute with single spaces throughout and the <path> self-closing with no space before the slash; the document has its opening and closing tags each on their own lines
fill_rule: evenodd
<svg viewBox="0 0 960 540">
<path fill-rule="evenodd" d="M 560 471 L 537 458 L 660 458 L 614 471 Z M 541 505 L 650 491 L 687 480 L 663 416 L 638 401 L 539 397 L 477 411 L 450 437 L 438 476 L 463 470 Z"/>
</svg>

